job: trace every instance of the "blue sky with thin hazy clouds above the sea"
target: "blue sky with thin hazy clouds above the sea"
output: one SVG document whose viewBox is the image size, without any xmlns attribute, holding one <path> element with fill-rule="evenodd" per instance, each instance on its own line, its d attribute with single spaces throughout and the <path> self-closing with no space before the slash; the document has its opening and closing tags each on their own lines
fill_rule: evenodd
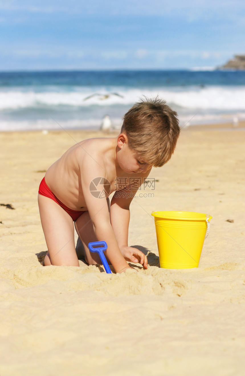
<svg viewBox="0 0 245 376">
<path fill-rule="evenodd" d="M 0 0 L 0 70 L 216 67 L 245 54 L 244 0 Z"/>
</svg>

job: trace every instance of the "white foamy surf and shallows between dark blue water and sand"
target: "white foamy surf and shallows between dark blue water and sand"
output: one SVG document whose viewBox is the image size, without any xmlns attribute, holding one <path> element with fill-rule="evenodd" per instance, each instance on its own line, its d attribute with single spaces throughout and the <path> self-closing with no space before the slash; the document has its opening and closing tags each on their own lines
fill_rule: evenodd
<svg viewBox="0 0 245 376">
<path fill-rule="evenodd" d="M 165 86 L 152 90 L 115 86 L 71 90 L 46 86 L 39 91 L 2 89 L 0 130 L 58 129 L 58 124 L 64 128 L 99 128 L 106 114 L 119 128 L 122 116 L 143 95 L 165 99 L 178 112 L 181 127 L 186 123 L 245 119 L 245 86 Z"/>
</svg>

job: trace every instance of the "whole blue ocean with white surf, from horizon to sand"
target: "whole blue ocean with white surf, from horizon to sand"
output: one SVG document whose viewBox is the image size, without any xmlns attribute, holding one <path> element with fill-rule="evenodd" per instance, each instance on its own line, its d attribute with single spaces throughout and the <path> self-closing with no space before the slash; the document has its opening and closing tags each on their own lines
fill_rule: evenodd
<svg viewBox="0 0 245 376">
<path fill-rule="evenodd" d="M 180 126 L 245 120 L 245 71 L 0 72 L 0 131 L 119 129 L 142 96 L 166 100 Z"/>
</svg>

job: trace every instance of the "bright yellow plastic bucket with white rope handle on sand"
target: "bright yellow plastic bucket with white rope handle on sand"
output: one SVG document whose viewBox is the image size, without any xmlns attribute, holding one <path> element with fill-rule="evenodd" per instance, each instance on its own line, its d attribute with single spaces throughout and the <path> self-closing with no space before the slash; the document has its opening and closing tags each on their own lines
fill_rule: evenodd
<svg viewBox="0 0 245 376">
<path fill-rule="evenodd" d="M 180 211 L 153 211 L 151 215 L 155 220 L 160 267 L 197 268 L 212 216 Z"/>
</svg>

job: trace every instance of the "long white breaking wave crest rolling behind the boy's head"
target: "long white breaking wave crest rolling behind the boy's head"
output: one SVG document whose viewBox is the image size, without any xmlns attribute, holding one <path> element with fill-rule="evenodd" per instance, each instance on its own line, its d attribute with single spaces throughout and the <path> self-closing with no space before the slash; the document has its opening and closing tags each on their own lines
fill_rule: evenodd
<svg viewBox="0 0 245 376">
<path fill-rule="evenodd" d="M 120 96 L 113 95 L 117 93 Z M 94 95 L 86 99 L 86 97 Z M 219 111 L 245 110 L 245 86 L 209 86 L 188 88 L 122 89 L 110 88 L 98 91 L 6 91 L 0 92 L 0 111 L 23 108 L 51 108 L 53 106 L 112 106 L 132 105 L 143 95 L 159 95 L 172 106 L 183 109 L 212 109 Z M 106 97 L 108 96 L 108 97 Z"/>
</svg>

